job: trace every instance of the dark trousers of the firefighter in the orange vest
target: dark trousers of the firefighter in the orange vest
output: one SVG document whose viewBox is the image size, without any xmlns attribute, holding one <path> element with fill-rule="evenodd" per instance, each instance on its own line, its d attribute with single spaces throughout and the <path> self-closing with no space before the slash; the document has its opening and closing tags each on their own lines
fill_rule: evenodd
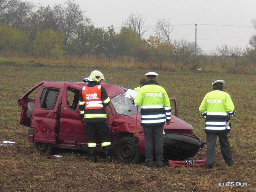
<svg viewBox="0 0 256 192">
<path fill-rule="evenodd" d="M 109 128 L 107 121 L 97 122 L 97 123 L 85 123 L 86 132 L 87 132 L 87 143 L 97 143 L 97 134 L 100 138 L 100 143 L 110 142 L 110 136 L 108 134 Z M 111 145 L 103 147 L 104 150 L 112 149 Z M 89 150 L 96 150 L 95 147 L 90 147 Z"/>
</svg>

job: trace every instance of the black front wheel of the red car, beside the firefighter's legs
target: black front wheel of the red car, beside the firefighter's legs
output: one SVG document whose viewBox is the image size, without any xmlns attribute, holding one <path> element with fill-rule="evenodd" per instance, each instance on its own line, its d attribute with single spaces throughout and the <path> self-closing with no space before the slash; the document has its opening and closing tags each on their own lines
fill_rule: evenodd
<svg viewBox="0 0 256 192">
<path fill-rule="evenodd" d="M 126 136 L 119 139 L 115 144 L 115 156 L 117 160 L 126 163 L 138 163 L 141 159 L 138 145 L 133 145 L 132 137 Z"/>
</svg>

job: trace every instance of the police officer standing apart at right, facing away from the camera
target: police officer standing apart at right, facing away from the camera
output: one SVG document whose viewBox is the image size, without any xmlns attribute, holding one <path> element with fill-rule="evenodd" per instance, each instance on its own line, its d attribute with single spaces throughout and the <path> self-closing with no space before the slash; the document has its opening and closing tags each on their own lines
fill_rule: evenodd
<svg viewBox="0 0 256 192">
<path fill-rule="evenodd" d="M 204 132 L 206 133 L 206 168 L 211 169 L 214 164 L 215 144 L 217 136 L 220 141 L 220 150 L 225 162 L 231 166 L 234 164 L 232 151 L 228 142 L 230 132 L 230 116 L 235 115 L 235 107 L 228 93 L 223 92 L 225 81 L 217 80 L 212 83 L 213 91 L 207 93 L 199 107 L 199 111 L 205 118 Z"/>
</svg>

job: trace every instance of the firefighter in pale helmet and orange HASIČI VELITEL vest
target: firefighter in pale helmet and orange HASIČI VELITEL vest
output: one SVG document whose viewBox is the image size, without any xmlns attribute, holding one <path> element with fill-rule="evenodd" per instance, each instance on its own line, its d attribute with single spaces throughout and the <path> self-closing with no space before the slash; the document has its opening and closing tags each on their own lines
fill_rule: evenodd
<svg viewBox="0 0 256 192">
<path fill-rule="evenodd" d="M 80 91 L 79 111 L 84 120 L 87 132 L 87 145 L 92 162 L 97 162 L 96 156 L 96 134 L 99 135 L 101 147 L 106 153 L 106 160 L 112 161 L 112 146 L 109 128 L 107 124 L 107 114 L 105 107 L 108 106 L 110 99 L 104 87 L 100 85 L 105 81 L 100 71 L 92 71 L 88 78 L 83 79 L 88 82 Z"/>
</svg>

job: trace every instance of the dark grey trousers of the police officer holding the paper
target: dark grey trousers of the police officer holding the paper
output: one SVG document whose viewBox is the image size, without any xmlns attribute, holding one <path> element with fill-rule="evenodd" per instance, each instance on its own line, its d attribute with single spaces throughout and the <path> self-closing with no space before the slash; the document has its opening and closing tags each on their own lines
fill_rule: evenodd
<svg viewBox="0 0 256 192">
<path fill-rule="evenodd" d="M 155 143 L 156 165 L 163 165 L 163 126 L 144 126 L 143 132 L 145 139 L 145 163 L 148 166 L 153 166 L 153 144 Z"/>
</svg>

